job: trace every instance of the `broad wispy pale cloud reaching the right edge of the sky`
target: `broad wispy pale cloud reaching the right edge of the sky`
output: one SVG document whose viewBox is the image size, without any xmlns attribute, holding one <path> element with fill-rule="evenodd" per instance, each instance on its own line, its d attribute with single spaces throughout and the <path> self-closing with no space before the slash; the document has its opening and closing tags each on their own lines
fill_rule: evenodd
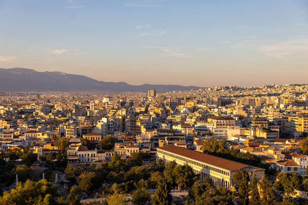
<svg viewBox="0 0 308 205">
<path fill-rule="evenodd" d="M 233 46 L 238 49 L 250 49 L 265 53 L 270 57 L 287 59 L 287 56 L 296 52 L 308 53 L 308 37 L 298 36 L 289 40 L 249 40 Z"/>
</svg>

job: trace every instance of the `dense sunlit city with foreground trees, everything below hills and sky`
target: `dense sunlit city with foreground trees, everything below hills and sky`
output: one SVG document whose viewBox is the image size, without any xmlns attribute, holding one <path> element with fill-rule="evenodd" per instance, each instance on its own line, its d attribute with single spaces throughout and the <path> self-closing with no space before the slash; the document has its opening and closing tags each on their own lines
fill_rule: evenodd
<svg viewBox="0 0 308 205">
<path fill-rule="evenodd" d="M 0 202 L 305 204 L 307 96 L 289 84 L 2 92 Z M 29 186 L 49 188 L 27 199 Z"/>
</svg>

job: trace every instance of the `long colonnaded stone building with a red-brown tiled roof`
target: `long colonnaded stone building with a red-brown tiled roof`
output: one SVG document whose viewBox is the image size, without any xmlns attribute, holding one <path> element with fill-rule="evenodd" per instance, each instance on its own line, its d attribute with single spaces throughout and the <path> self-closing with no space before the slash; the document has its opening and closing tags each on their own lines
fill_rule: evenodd
<svg viewBox="0 0 308 205">
<path fill-rule="evenodd" d="M 211 178 L 215 187 L 221 186 L 228 189 L 234 184 L 233 175 L 237 169 L 244 169 L 249 174 L 250 182 L 253 175 L 260 180 L 265 174 L 265 169 L 262 168 L 174 145 L 157 148 L 157 162 L 159 159 L 164 160 L 165 165 L 171 161 L 175 161 L 178 165 L 188 164 L 195 174 L 200 175 L 200 180 L 204 177 Z"/>
</svg>

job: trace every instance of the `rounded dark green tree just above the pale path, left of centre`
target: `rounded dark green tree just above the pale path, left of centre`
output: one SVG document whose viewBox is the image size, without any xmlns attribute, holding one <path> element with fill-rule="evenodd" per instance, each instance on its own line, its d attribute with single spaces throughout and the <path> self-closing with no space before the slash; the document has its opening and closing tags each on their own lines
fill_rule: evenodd
<svg viewBox="0 0 308 205">
<path fill-rule="evenodd" d="M 99 189 L 102 186 L 101 176 L 99 173 L 93 171 L 85 172 L 82 173 L 79 178 L 79 187 L 88 194 L 93 194 L 96 189 Z"/>
</svg>

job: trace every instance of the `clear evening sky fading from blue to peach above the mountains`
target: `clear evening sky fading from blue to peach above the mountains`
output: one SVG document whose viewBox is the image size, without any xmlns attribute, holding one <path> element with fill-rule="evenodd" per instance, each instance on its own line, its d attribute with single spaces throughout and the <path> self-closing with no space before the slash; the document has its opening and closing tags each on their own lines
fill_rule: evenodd
<svg viewBox="0 0 308 205">
<path fill-rule="evenodd" d="M 308 1 L 0 0 L 0 68 L 130 85 L 307 84 Z"/>
</svg>

